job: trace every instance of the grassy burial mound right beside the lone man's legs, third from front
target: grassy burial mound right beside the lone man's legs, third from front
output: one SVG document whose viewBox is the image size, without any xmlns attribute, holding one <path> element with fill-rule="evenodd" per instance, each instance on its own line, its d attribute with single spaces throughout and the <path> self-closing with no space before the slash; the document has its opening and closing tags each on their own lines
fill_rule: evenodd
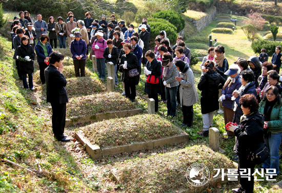
<svg viewBox="0 0 282 193">
<path fill-rule="evenodd" d="M 130 102 L 118 92 L 99 93 L 70 98 L 67 106 L 67 117 L 80 117 L 137 108 L 135 103 Z"/>
</svg>

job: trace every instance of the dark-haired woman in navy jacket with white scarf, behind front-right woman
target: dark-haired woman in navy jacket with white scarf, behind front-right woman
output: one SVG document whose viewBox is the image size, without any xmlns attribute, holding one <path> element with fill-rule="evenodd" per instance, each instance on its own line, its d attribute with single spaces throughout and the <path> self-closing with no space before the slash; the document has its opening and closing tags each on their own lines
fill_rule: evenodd
<svg viewBox="0 0 282 193">
<path fill-rule="evenodd" d="M 255 76 L 252 70 L 243 70 L 240 74 L 241 87 L 235 90 L 232 95 L 234 96 L 234 117 L 232 122 L 240 124 L 240 117 L 243 115 L 239 100 L 240 97 L 245 94 L 254 94 L 256 96 L 255 89 Z"/>
</svg>

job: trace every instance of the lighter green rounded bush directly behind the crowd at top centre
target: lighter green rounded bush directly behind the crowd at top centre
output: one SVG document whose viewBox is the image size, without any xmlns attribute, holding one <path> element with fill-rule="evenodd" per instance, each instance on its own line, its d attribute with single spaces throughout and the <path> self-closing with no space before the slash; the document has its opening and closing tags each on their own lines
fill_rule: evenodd
<svg viewBox="0 0 282 193">
<path fill-rule="evenodd" d="M 157 21 L 157 22 L 148 22 L 148 24 L 151 27 L 150 42 L 154 42 L 155 37 L 159 35 L 159 32 L 162 30 L 166 31 L 167 38 L 169 38 L 171 45 L 173 45 L 173 43 L 176 42 L 176 38 L 177 38 L 176 28 L 170 22 Z"/>
</svg>

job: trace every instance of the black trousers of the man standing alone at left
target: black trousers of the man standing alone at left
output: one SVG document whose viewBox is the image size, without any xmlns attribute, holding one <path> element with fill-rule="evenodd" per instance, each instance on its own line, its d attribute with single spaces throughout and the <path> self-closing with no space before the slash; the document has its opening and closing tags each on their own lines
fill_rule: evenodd
<svg viewBox="0 0 282 193">
<path fill-rule="evenodd" d="M 66 125 L 67 104 L 51 103 L 52 106 L 52 129 L 57 139 L 64 138 Z"/>
</svg>

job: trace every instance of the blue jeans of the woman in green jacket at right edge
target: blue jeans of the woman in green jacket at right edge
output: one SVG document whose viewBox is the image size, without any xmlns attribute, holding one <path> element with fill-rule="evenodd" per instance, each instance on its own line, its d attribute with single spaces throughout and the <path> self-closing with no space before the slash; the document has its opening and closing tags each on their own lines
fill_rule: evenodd
<svg viewBox="0 0 282 193">
<path fill-rule="evenodd" d="M 276 174 L 279 174 L 279 147 L 281 143 L 281 133 L 271 133 L 267 138 L 265 138 L 266 146 L 270 151 L 270 158 L 268 158 L 264 164 L 264 168 L 276 169 Z"/>
</svg>

